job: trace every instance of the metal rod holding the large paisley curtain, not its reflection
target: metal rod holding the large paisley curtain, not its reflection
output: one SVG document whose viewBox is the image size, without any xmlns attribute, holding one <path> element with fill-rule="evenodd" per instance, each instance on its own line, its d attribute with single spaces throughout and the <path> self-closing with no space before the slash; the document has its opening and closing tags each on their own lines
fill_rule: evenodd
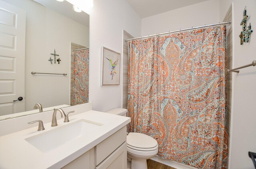
<svg viewBox="0 0 256 169">
<path fill-rule="evenodd" d="M 132 39 L 126 39 L 125 41 L 131 41 L 131 40 L 135 40 L 135 39 L 142 39 L 142 38 L 145 38 L 145 37 L 164 35 L 164 34 L 174 33 L 174 32 L 179 32 L 179 31 L 187 31 L 187 30 L 191 30 L 191 29 L 205 28 L 205 27 L 209 27 L 209 26 L 217 26 L 217 25 L 221 25 L 221 24 L 231 24 L 231 21 L 219 22 L 219 23 L 216 23 L 216 24 L 203 25 L 203 26 L 197 26 L 197 27 L 186 28 L 186 29 L 180 29 L 180 30 L 176 30 L 176 31 L 168 31 L 168 32 L 164 32 L 164 33 L 157 33 L 157 34 L 154 34 L 154 35 L 148 35 L 148 36 L 136 37 L 136 38 L 132 38 Z"/>
</svg>

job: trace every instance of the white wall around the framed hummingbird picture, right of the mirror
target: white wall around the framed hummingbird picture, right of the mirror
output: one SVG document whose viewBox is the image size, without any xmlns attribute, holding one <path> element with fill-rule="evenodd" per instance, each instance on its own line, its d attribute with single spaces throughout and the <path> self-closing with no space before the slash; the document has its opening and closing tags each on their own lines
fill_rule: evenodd
<svg viewBox="0 0 256 169">
<path fill-rule="evenodd" d="M 123 29 L 140 36 L 141 19 L 126 0 L 94 0 L 90 11 L 89 101 L 93 110 L 106 112 L 122 107 Z M 121 53 L 120 85 L 100 86 L 101 49 Z"/>
</svg>

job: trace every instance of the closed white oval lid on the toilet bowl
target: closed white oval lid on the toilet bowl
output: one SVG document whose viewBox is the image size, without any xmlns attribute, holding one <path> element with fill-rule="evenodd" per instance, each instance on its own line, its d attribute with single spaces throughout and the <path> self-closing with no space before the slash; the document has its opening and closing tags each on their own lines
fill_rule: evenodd
<svg viewBox="0 0 256 169">
<path fill-rule="evenodd" d="M 142 133 L 131 132 L 128 134 L 126 141 L 128 145 L 142 149 L 154 148 L 158 145 L 154 138 Z"/>
</svg>

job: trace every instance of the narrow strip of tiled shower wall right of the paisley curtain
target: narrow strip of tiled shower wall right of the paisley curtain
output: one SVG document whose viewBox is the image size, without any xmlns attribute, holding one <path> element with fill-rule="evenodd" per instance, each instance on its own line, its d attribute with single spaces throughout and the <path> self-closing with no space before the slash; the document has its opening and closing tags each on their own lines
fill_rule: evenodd
<svg viewBox="0 0 256 169">
<path fill-rule="evenodd" d="M 232 21 L 232 6 L 228 9 L 228 12 L 223 20 Z M 232 57 L 233 57 L 233 45 L 232 45 L 232 24 L 230 24 L 230 30 L 227 33 L 227 69 L 232 69 Z M 228 149 L 230 145 L 230 117 L 231 117 L 231 96 L 232 96 L 232 73 L 227 73 L 227 125 L 228 125 Z M 229 158 L 229 154 L 228 154 Z M 228 159 L 227 159 L 228 161 Z"/>
</svg>

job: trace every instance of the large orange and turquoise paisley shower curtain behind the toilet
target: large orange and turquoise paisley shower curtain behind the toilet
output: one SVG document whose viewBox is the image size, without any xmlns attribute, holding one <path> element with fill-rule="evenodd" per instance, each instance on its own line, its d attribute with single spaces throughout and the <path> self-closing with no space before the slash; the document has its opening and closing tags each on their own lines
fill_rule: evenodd
<svg viewBox="0 0 256 169">
<path fill-rule="evenodd" d="M 129 132 L 156 139 L 160 158 L 226 168 L 226 27 L 128 45 Z"/>
</svg>

